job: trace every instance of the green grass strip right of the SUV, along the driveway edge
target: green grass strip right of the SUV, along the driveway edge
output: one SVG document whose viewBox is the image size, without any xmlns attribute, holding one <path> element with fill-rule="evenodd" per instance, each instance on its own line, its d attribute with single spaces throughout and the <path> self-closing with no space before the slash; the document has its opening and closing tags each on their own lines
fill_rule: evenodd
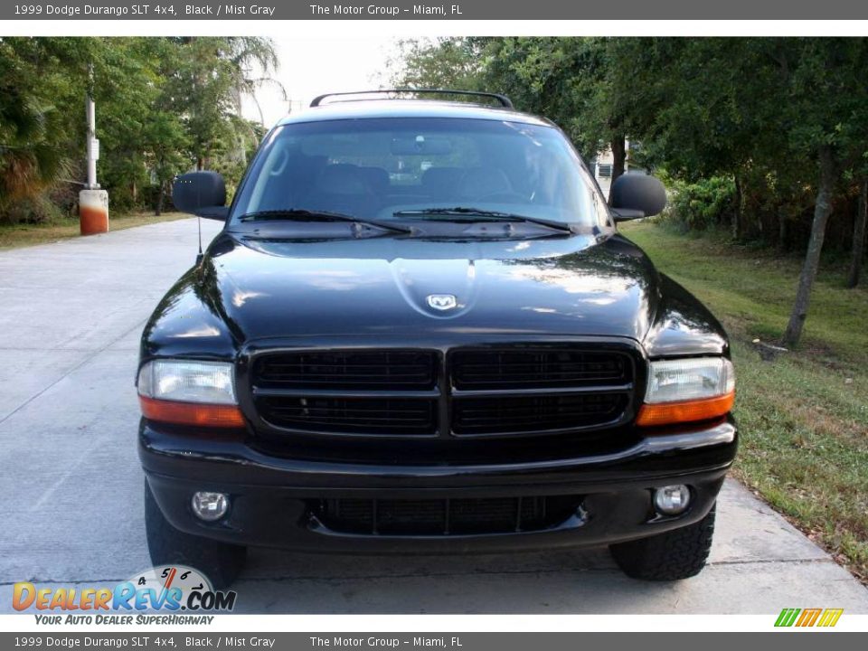
<svg viewBox="0 0 868 651">
<path fill-rule="evenodd" d="M 736 476 L 868 582 L 868 290 L 844 288 L 844 269 L 821 269 L 802 344 L 764 362 L 752 342 L 783 334 L 798 259 L 650 222 L 621 231 L 731 336 Z"/>
</svg>

